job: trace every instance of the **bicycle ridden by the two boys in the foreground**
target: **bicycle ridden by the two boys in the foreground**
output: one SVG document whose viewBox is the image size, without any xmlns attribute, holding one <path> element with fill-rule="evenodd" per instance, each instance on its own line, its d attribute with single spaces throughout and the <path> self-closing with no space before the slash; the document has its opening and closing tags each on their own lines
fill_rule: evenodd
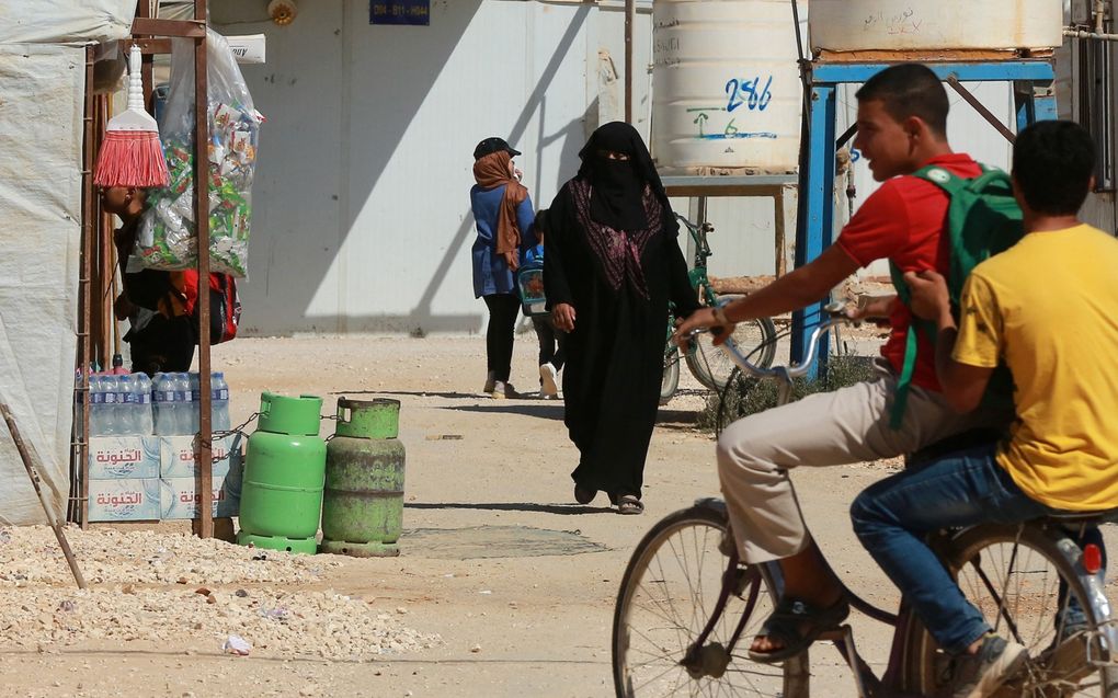
<svg viewBox="0 0 1118 698">
<path fill-rule="evenodd" d="M 793 379 L 807 373 L 818 337 L 847 323 L 839 309 L 812 334 L 798 366 L 766 369 L 749 363 L 732 338 L 735 363 L 759 379 L 780 383 L 781 403 Z M 1118 627 L 1099 579 L 1099 548 L 1076 543 L 1087 526 L 1114 520 L 1118 509 L 1049 517 L 1004 526 L 982 524 L 932 536 L 932 548 L 983 611 L 995 631 L 1029 649 L 1025 670 L 998 696 L 1118 696 Z M 626 566 L 614 612 L 614 687 L 624 698 L 646 696 L 809 695 L 809 651 L 778 664 L 752 662 L 739 641 L 756 634 L 779 599 L 777 563 L 740 563 L 724 546 L 728 519 L 719 499 L 700 499 L 659 522 L 637 544 Z M 719 548 L 733 547 L 729 554 Z M 906 604 L 897 613 L 878 609 L 843 586 L 851 608 L 892 625 L 888 666 L 879 678 L 859 653 L 849 624 L 828 631 L 852 669 L 863 698 L 939 695 L 948 657 Z M 1083 621 L 1068 622 L 1074 599 Z"/>
</svg>

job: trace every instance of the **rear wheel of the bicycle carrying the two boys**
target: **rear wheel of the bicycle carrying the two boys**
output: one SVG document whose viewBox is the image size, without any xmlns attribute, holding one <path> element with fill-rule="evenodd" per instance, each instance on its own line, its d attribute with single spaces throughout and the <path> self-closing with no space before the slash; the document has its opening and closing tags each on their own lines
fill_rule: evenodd
<svg viewBox="0 0 1118 698">
<path fill-rule="evenodd" d="M 1078 555 L 1069 538 L 1040 526 L 983 525 L 964 530 L 945 555 L 963 593 L 995 632 L 1029 650 L 1026 671 L 998 696 L 1118 697 L 1118 676 L 1107 666 L 1110 653 L 1101 634 L 1109 631 L 1109 619 L 1100 618 L 1106 610 L 1091 603 L 1064 551 Z M 1063 621 L 1070 599 L 1086 615 L 1079 629 Z M 906 633 L 906 688 L 938 695 L 949 658 L 915 616 Z"/>
</svg>

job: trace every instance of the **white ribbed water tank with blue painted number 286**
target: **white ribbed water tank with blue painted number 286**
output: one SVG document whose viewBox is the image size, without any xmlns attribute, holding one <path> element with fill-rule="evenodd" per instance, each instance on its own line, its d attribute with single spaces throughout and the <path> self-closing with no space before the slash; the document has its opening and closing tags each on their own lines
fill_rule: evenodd
<svg viewBox="0 0 1118 698">
<path fill-rule="evenodd" d="M 655 0 L 652 153 L 661 172 L 796 170 L 794 27 L 787 0 Z"/>
</svg>

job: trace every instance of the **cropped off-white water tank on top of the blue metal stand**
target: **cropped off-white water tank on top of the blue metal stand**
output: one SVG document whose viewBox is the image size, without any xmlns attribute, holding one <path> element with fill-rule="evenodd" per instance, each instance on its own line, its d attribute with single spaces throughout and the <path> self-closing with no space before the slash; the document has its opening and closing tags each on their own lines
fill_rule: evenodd
<svg viewBox="0 0 1118 698">
<path fill-rule="evenodd" d="M 811 0 L 815 50 L 1043 49 L 1063 44 L 1061 0 Z"/>
</svg>

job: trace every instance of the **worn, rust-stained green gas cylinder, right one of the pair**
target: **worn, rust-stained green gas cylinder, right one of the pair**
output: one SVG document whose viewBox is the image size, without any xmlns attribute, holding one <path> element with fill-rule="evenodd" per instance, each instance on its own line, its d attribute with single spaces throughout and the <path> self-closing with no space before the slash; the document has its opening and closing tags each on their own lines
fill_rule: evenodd
<svg viewBox="0 0 1118 698">
<path fill-rule="evenodd" d="M 397 439 L 399 415 L 398 400 L 338 401 L 338 428 L 326 444 L 321 552 L 400 554 L 405 455 Z"/>
</svg>

